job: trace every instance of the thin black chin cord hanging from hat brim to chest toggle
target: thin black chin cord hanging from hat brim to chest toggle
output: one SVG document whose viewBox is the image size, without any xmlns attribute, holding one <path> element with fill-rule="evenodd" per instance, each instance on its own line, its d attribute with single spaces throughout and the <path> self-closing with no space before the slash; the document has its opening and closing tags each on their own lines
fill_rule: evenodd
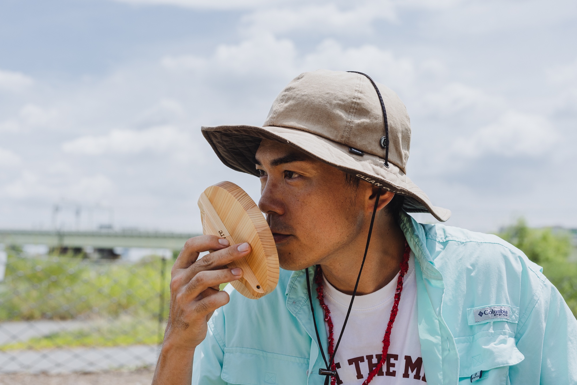
<svg viewBox="0 0 577 385">
<path fill-rule="evenodd" d="M 366 76 L 366 75 L 365 75 Z M 368 77 L 368 76 L 367 76 Z M 370 78 L 369 78 L 370 79 Z M 372 80 L 371 80 L 372 81 Z M 377 92 L 379 92 L 377 90 Z M 380 95 L 379 95 L 380 97 Z M 382 102 L 382 100 L 381 100 Z M 377 214 L 377 206 L 379 205 L 379 198 L 381 196 L 381 189 L 379 188 L 377 190 L 377 195 L 374 199 L 374 208 L 373 208 L 373 215 L 370 218 L 370 226 L 369 226 L 369 236 L 366 238 L 366 246 L 365 246 L 365 255 L 362 257 L 362 263 L 361 263 L 361 268 L 359 269 L 359 275 L 357 276 L 357 282 L 355 283 L 355 289 L 353 290 L 353 296 L 351 297 L 351 302 L 349 304 L 349 309 L 347 310 L 347 316 L 344 317 L 344 323 L 343 323 L 343 327 L 340 330 L 340 335 L 339 335 L 339 339 L 336 342 L 335 345 L 335 350 L 332 353 L 332 357 L 329 357 L 331 359 L 330 363 L 327 363 L 327 357 L 324 354 L 324 350 L 323 350 L 323 344 L 321 343 L 321 338 L 319 336 L 319 328 L 317 327 L 317 320 L 314 317 L 314 306 L 313 306 L 313 297 L 310 294 L 310 276 L 309 276 L 309 268 L 305 269 L 305 274 L 306 274 L 306 290 L 309 293 L 309 303 L 310 303 L 310 311 L 313 313 L 313 323 L 314 323 L 314 332 L 316 332 L 317 335 L 317 342 L 319 343 L 319 349 L 321 351 L 321 356 L 323 356 L 323 361 L 325 363 L 325 366 L 327 367 L 326 369 L 319 369 L 319 375 L 321 376 L 326 376 L 325 377 L 325 385 L 328 385 L 329 379 L 330 377 L 334 377 L 336 376 L 336 370 L 331 370 L 332 364 L 335 361 L 335 357 L 336 357 L 336 350 L 339 349 L 339 344 L 340 344 L 340 339 L 343 337 L 343 332 L 344 332 L 344 327 L 347 326 L 347 320 L 349 320 L 349 315 L 351 313 L 351 309 L 353 308 L 353 301 L 355 300 L 355 296 L 357 295 L 357 289 L 359 286 L 359 281 L 361 279 L 361 273 L 362 273 L 362 268 L 363 266 L 365 266 L 365 260 L 366 260 L 366 253 L 369 251 L 369 244 L 370 244 L 370 236 L 373 233 L 373 225 L 374 225 L 374 216 Z"/>
</svg>

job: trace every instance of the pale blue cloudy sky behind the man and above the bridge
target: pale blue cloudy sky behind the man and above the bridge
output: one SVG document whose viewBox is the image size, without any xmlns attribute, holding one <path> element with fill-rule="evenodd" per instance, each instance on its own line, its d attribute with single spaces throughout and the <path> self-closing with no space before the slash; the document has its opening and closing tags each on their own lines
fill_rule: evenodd
<svg viewBox="0 0 577 385">
<path fill-rule="evenodd" d="M 399 94 L 447 225 L 577 227 L 575 36 L 571 0 L 2 0 L 0 228 L 201 231 L 205 188 L 260 183 L 200 127 L 321 68 Z"/>
</svg>

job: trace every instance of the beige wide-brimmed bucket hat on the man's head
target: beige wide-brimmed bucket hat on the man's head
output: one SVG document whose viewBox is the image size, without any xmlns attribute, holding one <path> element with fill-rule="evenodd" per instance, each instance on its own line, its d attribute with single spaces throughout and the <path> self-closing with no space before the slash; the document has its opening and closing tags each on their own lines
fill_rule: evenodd
<svg viewBox="0 0 577 385">
<path fill-rule="evenodd" d="M 403 102 L 365 74 L 323 69 L 302 73 L 276 97 L 262 127 L 201 130 L 231 169 L 258 175 L 258 145 L 262 139 L 276 140 L 406 196 L 407 212 L 430 212 L 442 222 L 451 216 L 451 211 L 433 206 L 406 175 L 411 125 Z"/>
</svg>

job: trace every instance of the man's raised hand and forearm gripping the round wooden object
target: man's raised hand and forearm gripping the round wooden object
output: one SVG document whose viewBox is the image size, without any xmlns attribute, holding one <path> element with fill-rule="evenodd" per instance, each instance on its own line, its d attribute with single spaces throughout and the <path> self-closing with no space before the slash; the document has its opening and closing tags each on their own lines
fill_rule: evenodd
<svg viewBox="0 0 577 385">
<path fill-rule="evenodd" d="M 212 251 L 201 259 L 198 255 Z M 248 243 L 228 245 L 224 238 L 190 238 L 171 271 L 170 314 L 153 384 L 190 384 L 194 349 L 207 335 L 212 313 L 230 298 L 219 285 L 241 278 L 241 268 L 223 268 L 250 253 Z"/>
</svg>

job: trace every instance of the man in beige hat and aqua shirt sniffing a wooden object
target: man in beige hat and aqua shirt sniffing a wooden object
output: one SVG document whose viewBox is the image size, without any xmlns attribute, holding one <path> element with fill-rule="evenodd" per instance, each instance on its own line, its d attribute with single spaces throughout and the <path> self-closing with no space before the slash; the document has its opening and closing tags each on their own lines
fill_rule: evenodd
<svg viewBox="0 0 577 385">
<path fill-rule="evenodd" d="M 406 175 L 409 116 L 387 87 L 303 73 L 263 127 L 203 134 L 260 178 L 279 283 L 260 300 L 218 291 L 250 245 L 187 241 L 153 383 L 577 383 L 577 321 L 541 268 L 496 236 L 407 214 L 450 216 Z"/>
</svg>

